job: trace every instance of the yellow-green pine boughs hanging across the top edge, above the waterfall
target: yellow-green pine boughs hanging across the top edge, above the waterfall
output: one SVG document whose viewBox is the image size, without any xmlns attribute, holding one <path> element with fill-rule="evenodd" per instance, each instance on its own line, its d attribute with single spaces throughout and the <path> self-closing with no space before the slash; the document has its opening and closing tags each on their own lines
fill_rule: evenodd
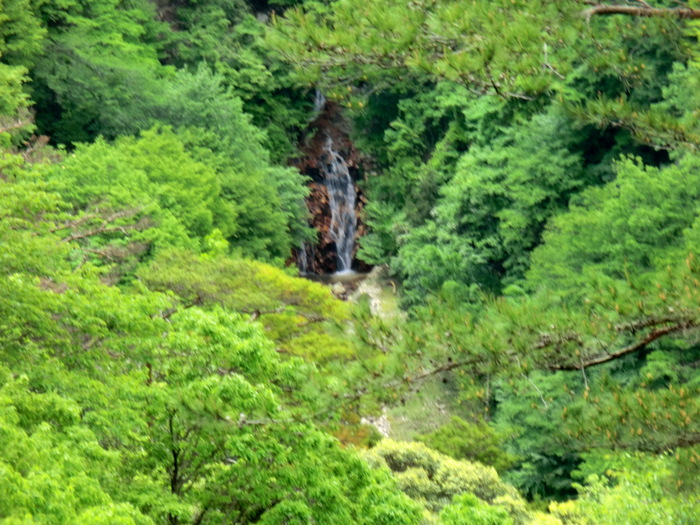
<svg viewBox="0 0 700 525">
<path fill-rule="evenodd" d="M 335 2 L 285 14 L 271 35 L 292 62 L 338 79 L 386 74 L 432 76 L 478 91 L 524 96 L 549 87 L 564 41 L 546 30 L 569 20 L 573 4 L 550 2 Z M 574 7 L 575 9 L 575 7 Z M 314 71 L 313 68 L 309 68 Z M 318 71 L 316 70 L 316 71 Z"/>
</svg>

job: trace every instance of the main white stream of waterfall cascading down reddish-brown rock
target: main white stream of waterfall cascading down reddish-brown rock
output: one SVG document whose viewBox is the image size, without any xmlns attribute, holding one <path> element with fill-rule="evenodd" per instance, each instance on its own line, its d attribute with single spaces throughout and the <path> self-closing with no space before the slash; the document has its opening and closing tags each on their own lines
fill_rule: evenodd
<svg viewBox="0 0 700 525">
<path fill-rule="evenodd" d="M 357 193 L 345 159 L 335 151 L 335 144 L 327 136 L 323 158 L 320 159 L 323 182 L 328 190 L 331 208 L 330 236 L 335 242 L 338 272 L 352 270 L 352 250 L 355 246 Z"/>
</svg>

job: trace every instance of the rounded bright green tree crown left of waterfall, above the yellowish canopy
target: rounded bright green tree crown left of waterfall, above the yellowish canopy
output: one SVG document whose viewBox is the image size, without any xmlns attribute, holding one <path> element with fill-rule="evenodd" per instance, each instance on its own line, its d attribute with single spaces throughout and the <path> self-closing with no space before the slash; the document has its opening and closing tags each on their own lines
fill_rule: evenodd
<svg viewBox="0 0 700 525">
<path fill-rule="evenodd" d="M 80 147 L 47 178 L 75 210 L 63 238 L 86 258 L 128 268 L 152 244 L 196 248 L 214 227 L 217 174 L 169 130 Z"/>
</svg>

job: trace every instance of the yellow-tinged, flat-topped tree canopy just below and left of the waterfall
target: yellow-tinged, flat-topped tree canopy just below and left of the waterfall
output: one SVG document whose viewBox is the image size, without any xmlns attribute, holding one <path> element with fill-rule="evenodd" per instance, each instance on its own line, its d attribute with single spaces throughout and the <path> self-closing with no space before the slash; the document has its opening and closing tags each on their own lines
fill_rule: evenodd
<svg viewBox="0 0 700 525">
<path fill-rule="evenodd" d="M 139 272 L 149 288 L 170 290 L 184 305 L 220 304 L 259 318 L 284 354 L 319 362 L 348 359 L 355 344 L 333 327 L 348 305 L 319 284 L 256 261 L 168 251 Z"/>
</svg>

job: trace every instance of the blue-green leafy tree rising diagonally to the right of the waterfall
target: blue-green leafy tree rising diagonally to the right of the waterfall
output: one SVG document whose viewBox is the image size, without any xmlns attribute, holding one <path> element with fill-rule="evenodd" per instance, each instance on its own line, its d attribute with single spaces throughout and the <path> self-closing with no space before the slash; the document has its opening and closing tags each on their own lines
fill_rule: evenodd
<svg viewBox="0 0 700 525">
<path fill-rule="evenodd" d="M 545 221 L 586 184 L 573 130 L 550 111 L 463 155 L 426 226 L 405 236 L 396 269 L 409 301 L 447 280 L 488 291 L 522 276 Z"/>
</svg>

